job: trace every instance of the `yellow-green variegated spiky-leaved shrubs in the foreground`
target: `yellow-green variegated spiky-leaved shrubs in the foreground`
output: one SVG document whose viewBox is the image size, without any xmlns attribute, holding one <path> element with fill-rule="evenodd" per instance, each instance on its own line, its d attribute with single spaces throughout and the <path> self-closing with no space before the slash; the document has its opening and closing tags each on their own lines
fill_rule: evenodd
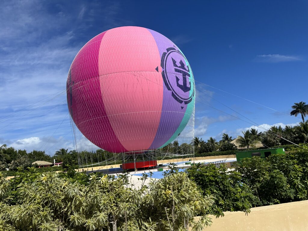
<svg viewBox="0 0 308 231">
<path fill-rule="evenodd" d="M 21 172 L 7 181 L 0 173 L 0 230 L 197 231 L 211 223 L 206 214 L 213 196 L 203 197 L 186 173 L 170 173 L 140 190 L 126 186 L 126 175 L 77 178 L 83 175 Z"/>
</svg>

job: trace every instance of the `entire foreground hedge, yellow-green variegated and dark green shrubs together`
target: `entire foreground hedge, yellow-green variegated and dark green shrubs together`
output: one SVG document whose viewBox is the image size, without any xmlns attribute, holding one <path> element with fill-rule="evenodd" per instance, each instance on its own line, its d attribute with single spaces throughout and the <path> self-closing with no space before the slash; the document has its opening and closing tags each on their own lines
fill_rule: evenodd
<svg viewBox="0 0 308 231">
<path fill-rule="evenodd" d="M 20 168 L 8 181 L 0 172 L 0 230 L 202 230 L 209 213 L 308 199 L 307 145 L 243 159 L 231 172 L 213 164 L 170 168 L 140 189 L 128 187 L 125 174 Z"/>
</svg>

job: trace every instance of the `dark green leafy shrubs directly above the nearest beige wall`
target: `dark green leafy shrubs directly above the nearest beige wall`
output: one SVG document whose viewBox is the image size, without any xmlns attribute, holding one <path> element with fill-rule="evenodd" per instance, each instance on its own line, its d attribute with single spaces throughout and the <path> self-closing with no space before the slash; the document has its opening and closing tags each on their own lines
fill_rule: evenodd
<svg viewBox="0 0 308 231">
<path fill-rule="evenodd" d="M 215 196 L 210 213 L 249 211 L 250 207 L 308 199 L 308 146 L 276 154 L 241 160 L 234 171 L 224 165 L 197 165 L 187 170 L 204 195 Z"/>
</svg>

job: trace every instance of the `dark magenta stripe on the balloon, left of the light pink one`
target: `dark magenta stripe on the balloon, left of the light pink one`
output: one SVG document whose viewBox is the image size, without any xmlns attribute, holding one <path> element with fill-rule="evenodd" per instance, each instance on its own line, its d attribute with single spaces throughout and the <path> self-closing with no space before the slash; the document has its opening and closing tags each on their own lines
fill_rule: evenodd
<svg viewBox="0 0 308 231">
<path fill-rule="evenodd" d="M 111 152 L 125 152 L 108 120 L 100 90 L 99 47 L 105 34 L 95 36 L 76 55 L 67 81 L 67 102 L 74 123 L 88 140 Z"/>
</svg>

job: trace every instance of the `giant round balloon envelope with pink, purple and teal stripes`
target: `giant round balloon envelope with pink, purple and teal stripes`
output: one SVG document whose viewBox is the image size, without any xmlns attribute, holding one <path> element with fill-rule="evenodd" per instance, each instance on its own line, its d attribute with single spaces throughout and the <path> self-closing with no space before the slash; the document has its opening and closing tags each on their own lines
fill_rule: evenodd
<svg viewBox="0 0 308 231">
<path fill-rule="evenodd" d="M 110 152 L 164 147 L 191 118 L 195 83 L 180 49 L 162 34 L 124 26 L 91 39 L 67 78 L 67 104 L 82 134 Z"/>
</svg>

